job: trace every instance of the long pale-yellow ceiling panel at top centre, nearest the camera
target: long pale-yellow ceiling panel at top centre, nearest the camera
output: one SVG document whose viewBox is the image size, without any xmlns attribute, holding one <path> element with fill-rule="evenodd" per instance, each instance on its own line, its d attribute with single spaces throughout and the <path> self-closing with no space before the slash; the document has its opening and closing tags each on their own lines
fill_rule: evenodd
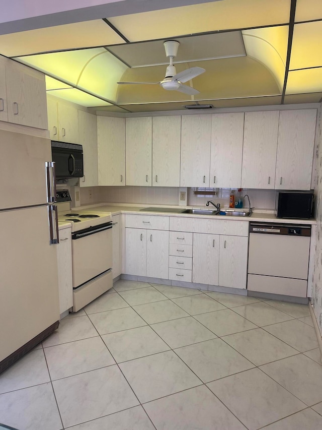
<svg viewBox="0 0 322 430">
<path fill-rule="evenodd" d="M 288 23 L 290 0 L 224 0 L 108 18 L 131 42 Z"/>
</svg>

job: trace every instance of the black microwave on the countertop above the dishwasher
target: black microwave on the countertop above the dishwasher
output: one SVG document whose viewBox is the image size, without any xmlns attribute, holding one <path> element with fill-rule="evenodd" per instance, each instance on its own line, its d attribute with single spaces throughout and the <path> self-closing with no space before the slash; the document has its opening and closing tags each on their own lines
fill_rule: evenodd
<svg viewBox="0 0 322 430">
<path fill-rule="evenodd" d="M 278 193 L 277 218 L 309 219 L 313 210 L 313 192 Z"/>
</svg>

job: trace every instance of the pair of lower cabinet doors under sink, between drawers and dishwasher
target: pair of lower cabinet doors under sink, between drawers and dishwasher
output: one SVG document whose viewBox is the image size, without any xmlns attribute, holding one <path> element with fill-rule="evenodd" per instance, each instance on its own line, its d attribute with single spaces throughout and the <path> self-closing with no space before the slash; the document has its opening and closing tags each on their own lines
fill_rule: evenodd
<svg viewBox="0 0 322 430">
<path fill-rule="evenodd" d="M 246 288 L 248 237 L 194 233 L 192 281 Z"/>
</svg>

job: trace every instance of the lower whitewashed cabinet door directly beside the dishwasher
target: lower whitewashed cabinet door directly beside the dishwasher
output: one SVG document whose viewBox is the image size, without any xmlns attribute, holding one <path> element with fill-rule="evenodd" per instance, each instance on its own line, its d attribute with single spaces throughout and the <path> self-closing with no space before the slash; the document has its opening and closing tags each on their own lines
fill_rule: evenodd
<svg viewBox="0 0 322 430">
<path fill-rule="evenodd" d="M 220 236 L 218 285 L 246 288 L 247 252 L 248 237 Z"/>
</svg>

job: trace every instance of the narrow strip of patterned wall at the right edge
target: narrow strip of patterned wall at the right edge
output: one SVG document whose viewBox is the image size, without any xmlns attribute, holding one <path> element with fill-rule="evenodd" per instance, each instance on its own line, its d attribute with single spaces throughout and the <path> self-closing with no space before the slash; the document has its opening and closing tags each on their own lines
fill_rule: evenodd
<svg viewBox="0 0 322 430">
<path fill-rule="evenodd" d="M 316 174 L 315 174 L 315 218 L 316 247 L 313 269 L 312 304 L 316 321 L 322 335 L 322 104 L 319 115 L 319 133 L 317 140 Z"/>
</svg>

